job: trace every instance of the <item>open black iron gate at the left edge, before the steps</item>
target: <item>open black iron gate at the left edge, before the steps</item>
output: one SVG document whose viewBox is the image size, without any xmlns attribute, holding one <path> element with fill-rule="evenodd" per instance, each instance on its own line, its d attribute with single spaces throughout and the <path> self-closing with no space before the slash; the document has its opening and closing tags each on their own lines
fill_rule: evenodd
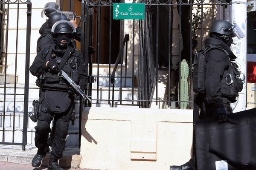
<svg viewBox="0 0 256 170">
<path fill-rule="evenodd" d="M 23 150 L 27 144 L 31 8 L 30 0 L 0 0 L 0 144 L 22 145 Z"/>
</svg>

